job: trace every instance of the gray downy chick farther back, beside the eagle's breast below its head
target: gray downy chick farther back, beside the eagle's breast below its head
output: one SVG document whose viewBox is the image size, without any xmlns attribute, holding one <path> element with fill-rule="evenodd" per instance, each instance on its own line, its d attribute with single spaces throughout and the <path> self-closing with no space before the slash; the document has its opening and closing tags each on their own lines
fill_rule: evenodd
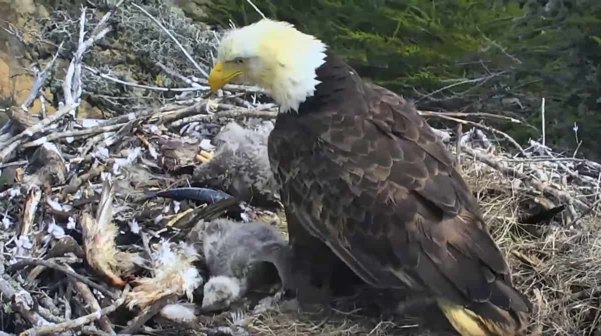
<svg viewBox="0 0 601 336">
<path fill-rule="evenodd" d="M 213 143 L 213 158 L 200 164 L 195 182 L 226 191 L 253 205 L 267 205 L 279 199 L 267 154 L 270 121 L 251 121 L 245 128 L 236 122 L 225 125 Z"/>
</svg>

